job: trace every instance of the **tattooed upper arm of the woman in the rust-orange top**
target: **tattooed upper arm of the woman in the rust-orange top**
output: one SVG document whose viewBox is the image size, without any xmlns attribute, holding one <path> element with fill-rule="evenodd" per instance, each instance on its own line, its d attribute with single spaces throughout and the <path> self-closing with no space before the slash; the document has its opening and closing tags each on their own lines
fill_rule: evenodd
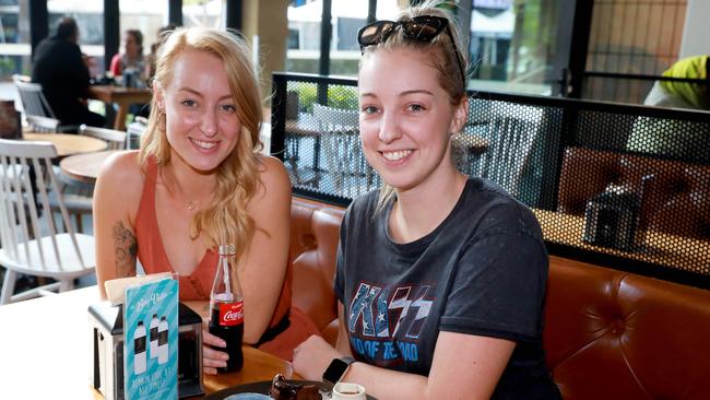
<svg viewBox="0 0 710 400">
<path fill-rule="evenodd" d="M 133 221 L 142 189 L 137 154 L 109 157 L 94 189 L 96 281 L 102 298 L 106 297 L 104 282 L 135 275 L 138 243 Z"/>
</svg>

